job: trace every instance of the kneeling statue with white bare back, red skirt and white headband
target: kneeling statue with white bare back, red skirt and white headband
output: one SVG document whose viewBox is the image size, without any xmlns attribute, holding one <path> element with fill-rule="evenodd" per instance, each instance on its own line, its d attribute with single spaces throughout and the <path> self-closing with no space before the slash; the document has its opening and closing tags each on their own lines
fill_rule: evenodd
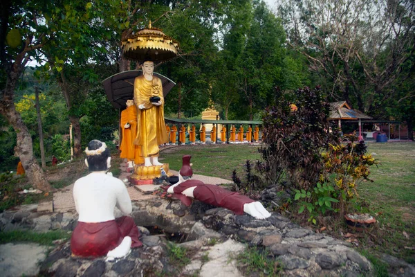
<svg viewBox="0 0 415 277">
<path fill-rule="evenodd" d="M 133 218 L 127 216 L 132 210 L 127 188 L 120 179 L 106 174 L 111 156 L 105 143 L 93 140 L 85 152 L 91 173 L 73 186 L 79 218 L 72 233 L 71 251 L 81 257 L 126 256 L 131 247 L 142 245 Z M 115 218 L 115 207 L 124 216 Z"/>
</svg>

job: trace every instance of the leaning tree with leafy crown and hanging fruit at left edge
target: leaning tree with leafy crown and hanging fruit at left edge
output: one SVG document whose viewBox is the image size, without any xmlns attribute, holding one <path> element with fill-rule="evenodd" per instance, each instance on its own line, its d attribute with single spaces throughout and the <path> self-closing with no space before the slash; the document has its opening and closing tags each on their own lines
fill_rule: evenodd
<svg viewBox="0 0 415 277">
<path fill-rule="evenodd" d="M 33 156 L 33 141 L 15 107 L 15 89 L 24 66 L 50 40 L 53 33 L 45 26 L 44 12 L 54 12 L 50 1 L 1 1 L 0 21 L 0 112 L 17 134 L 15 154 L 26 175 L 39 190 L 51 191 L 42 168 Z"/>
</svg>

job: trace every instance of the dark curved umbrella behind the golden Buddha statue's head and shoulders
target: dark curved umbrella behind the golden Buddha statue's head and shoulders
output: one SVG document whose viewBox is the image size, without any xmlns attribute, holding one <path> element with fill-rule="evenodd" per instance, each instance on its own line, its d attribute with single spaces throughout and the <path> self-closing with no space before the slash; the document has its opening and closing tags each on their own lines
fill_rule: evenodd
<svg viewBox="0 0 415 277">
<path fill-rule="evenodd" d="M 176 83 L 161 74 L 155 72 L 153 74 L 160 78 L 163 84 L 163 96 L 166 97 Z M 133 99 L 134 79 L 139 75 L 142 75 L 142 71 L 130 70 L 117 73 L 102 81 L 107 98 L 113 107 L 120 109 L 125 107 L 127 100 Z"/>
</svg>

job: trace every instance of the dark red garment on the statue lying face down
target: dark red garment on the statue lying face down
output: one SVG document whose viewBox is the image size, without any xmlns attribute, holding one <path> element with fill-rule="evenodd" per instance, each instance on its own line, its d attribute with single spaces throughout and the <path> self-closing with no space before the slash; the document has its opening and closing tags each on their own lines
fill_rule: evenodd
<svg viewBox="0 0 415 277">
<path fill-rule="evenodd" d="M 225 190 L 220 186 L 205 184 L 199 180 L 187 180 L 174 187 L 174 193 L 182 193 L 187 188 L 196 187 L 193 190 L 194 199 L 216 207 L 228 208 L 237 215 L 243 215 L 243 205 L 255 202 L 255 200 L 240 195 L 239 193 Z"/>
</svg>

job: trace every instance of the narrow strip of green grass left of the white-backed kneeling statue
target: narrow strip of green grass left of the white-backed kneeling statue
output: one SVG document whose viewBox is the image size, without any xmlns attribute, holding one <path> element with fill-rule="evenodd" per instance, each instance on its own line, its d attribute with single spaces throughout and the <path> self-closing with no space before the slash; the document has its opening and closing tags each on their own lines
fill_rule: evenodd
<svg viewBox="0 0 415 277">
<path fill-rule="evenodd" d="M 8 242 L 36 242 L 43 245 L 53 245 L 54 240 L 66 240 L 68 238 L 71 238 L 71 234 L 62 230 L 46 233 L 21 230 L 0 232 L 0 244 Z"/>
</svg>

